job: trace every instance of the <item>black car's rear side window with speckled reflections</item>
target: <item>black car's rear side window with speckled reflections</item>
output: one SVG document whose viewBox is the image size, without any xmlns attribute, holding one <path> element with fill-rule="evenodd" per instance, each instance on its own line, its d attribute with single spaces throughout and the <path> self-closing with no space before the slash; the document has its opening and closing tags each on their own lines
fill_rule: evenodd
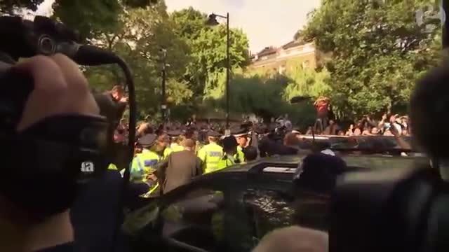
<svg viewBox="0 0 449 252">
<path fill-rule="evenodd" d="M 327 230 L 326 197 L 310 193 L 293 197 L 276 190 L 250 189 L 243 196 L 243 204 L 253 225 L 253 236 L 257 239 L 290 225 Z"/>
</svg>

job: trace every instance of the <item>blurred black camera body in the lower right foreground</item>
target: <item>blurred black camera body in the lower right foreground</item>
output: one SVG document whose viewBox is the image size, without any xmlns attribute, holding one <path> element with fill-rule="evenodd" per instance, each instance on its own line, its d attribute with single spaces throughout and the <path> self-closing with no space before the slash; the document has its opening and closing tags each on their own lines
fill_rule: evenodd
<svg viewBox="0 0 449 252">
<path fill-rule="evenodd" d="M 330 251 L 446 251 L 448 189 L 430 167 L 345 175 L 331 200 Z"/>
</svg>

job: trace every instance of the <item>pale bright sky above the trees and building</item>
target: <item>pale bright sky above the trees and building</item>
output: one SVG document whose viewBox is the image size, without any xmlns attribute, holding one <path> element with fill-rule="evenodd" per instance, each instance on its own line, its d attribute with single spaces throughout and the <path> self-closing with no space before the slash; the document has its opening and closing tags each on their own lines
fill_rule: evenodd
<svg viewBox="0 0 449 252">
<path fill-rule="evenodd" d="M 36 13 L 47 15 L 53 1 L 45 0 Z M 291 41 L 306 24 L 307 13 L 320 3 L 321 0 L 166 0 L 169 12 L 189 6 L 203 13 L 229 12 L 229 25 L 246 32 L 252 52 Z"/>
</svg>

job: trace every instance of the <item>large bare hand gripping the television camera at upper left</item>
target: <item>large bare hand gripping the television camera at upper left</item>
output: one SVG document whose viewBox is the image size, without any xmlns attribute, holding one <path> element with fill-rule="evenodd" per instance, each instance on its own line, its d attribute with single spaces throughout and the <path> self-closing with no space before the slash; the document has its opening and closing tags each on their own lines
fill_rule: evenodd
<svg viewBox="0 0 449 252">
<path fill-rule="evenodd" d="M 15 67 L 31 74 L 34 79 L 34 90 L 22 111 L 19 131 L 58 114 L 99 115 L 100 109 L 88 89 L 86 78 L 67 56 L 36 56 Z"/>
</svg>

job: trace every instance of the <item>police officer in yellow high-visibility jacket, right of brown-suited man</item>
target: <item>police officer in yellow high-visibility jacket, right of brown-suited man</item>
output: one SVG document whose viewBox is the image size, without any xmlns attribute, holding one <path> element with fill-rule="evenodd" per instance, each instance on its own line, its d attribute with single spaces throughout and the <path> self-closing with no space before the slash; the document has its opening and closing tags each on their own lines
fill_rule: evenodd
<svg viewBox="0 0 449 252">
<path fill-rule="evenodd" d="M 223 148 L 217 144 L 218 137 L 220 134 L 213 130 L 208 131 L 208 141 L 206 144 L 198 151 L 198 157 L 203 162 L 203 173 L 215 172 L 218 167 L 218 162 L 223 156 Z"/>
</svg>

